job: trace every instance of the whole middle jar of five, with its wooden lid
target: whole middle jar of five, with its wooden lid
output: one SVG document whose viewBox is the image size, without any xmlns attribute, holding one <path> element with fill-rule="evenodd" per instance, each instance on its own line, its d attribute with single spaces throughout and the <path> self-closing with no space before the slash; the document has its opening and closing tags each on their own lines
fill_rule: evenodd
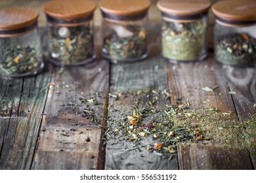
<svg viewBox="0 0 256 183">
<path fill-rule="evenodd" d="M 138 61 L 148 56 L 148 0 L 103 0 L 102 56 L 113 63 Z"/>
</svg>

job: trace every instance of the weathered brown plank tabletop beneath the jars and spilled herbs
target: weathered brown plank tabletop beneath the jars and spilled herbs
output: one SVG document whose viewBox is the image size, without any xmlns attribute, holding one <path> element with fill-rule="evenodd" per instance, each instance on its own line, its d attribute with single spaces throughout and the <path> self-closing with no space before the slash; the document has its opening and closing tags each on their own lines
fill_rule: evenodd
<svg viewBox="0 0 256 183">
<path fill-rule="evenodd" d="M 131 93 L 148 89 L 168 90 L 171 99 L 167 103 L 178 97 L 189 99 L 192 108 L 203 107 L 208 99 L 221 112 L 231 111 L 236 121 L 240 120 L 237 115 L 245 119 L 255 114 L 255 67 L 224 67 L 214 61 L 212 49 L 204 61 L 169 63 L 160 56 L 159 28 L 159 24 L 150 25 L 150 54 L 143 61 L 110 64 L 100 58 L 97 44 L 97 58 L 88 65 L 62 70 L 45 56 L 43 73 L 1 79 L 0 169 L 255 169 L 255 154 L 222 146 L 218 143 L 221 137 L 214 134 L 207 143 L 180 144 L 170 160 L 145 150 L 127 150 L 133 147 L 129 141 L 104 141 L 104 129 L 111 125 L 106 116 L 123 118 L 120 110 L 131 110 L 137 99 L 143 105 L 148 95 Z M 205 86 L 219 87 L 205 92 Z M 99 102 L 93 117 L 83 113 L 86 107 L 79 105 L 81 96 Z M 158 107 L 164 102 L 160 99 Z M 250 138 L 254 144 L 255 137 Z"/>
</svg>

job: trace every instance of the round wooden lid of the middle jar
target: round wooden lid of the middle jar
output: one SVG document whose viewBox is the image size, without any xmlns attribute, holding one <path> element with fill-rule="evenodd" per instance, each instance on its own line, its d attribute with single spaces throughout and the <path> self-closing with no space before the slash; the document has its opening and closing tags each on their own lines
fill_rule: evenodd
<svg viewBox="0 0 256 183">
<path fill-rule="evenodd" d="M 99 3 L 103 12 L 116 15 L 134 15 L 145 12 L 150 7 L 148 0 L 102 0 Z"/>
</svg>

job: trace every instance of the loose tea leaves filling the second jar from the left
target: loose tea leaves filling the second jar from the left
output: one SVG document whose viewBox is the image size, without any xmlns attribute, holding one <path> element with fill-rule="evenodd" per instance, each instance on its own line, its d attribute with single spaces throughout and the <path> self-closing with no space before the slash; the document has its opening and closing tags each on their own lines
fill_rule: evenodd
<svg viewBox="0 0 256 183">
<path fill-rule="evenodd" d="M 54 61 L 70 64 L 93 58 L 93 33 L 89 26 L 58 27 L 49 30 L 49 54 Z"/>
</svg>

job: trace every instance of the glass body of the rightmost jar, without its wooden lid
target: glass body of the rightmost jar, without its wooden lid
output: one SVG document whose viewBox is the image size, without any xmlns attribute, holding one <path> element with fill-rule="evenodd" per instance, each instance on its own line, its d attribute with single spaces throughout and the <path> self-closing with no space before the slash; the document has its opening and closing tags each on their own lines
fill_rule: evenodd
<svg viewBox="0 0 256 183">
<path fill-rule="evenodd" d="M 215 22 L 215 60 L 246 67 L 256 63 L 256 25 L 234 26 Z"/>
</svg>

